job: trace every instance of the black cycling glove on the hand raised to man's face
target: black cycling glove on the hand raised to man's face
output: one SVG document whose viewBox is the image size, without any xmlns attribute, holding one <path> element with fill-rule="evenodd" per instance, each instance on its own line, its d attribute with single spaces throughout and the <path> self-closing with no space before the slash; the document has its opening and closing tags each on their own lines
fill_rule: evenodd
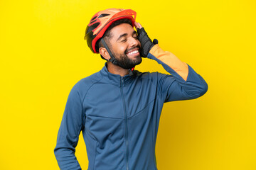
<svg viewBox="0 0 256 170">
<path fill-rule="evenodd" d="M 154 39 L 152 42 L 149 36 L 146 34 L 146 31 L 144 30 L 144 28 L 138 28 L 137 33 L 138 33 L 138 39 L 142 44 L 142 47 L 139 53 L 142 57 L 146 57 L 149 54 L 149 51 L 151 50 L 151 48 L 154 45 L 158 44 L 158 40 Z"/>
</svg>

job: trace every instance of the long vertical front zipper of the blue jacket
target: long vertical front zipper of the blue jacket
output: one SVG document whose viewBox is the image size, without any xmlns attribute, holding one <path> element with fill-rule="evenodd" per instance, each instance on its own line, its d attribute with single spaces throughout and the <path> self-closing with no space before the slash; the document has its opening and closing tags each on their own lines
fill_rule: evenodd
<svg viewBox="0 0 256 170">
<path fill-rule="evenodd" d="M 126 105 L 124 101 L 124 94 L 123 94 L 123 84 L 124 84 L 124 77 L 121 78 L 121 96 L 122 96 L 122 102 L 124 106 L 124 142 L 126 147 L 126 153 L 125 153 L 125 161 L 126 161 L 126 169 L 128 168 L 128 125 L 127 125 L 127 111 L 126 111 Z"/>
</svg>

